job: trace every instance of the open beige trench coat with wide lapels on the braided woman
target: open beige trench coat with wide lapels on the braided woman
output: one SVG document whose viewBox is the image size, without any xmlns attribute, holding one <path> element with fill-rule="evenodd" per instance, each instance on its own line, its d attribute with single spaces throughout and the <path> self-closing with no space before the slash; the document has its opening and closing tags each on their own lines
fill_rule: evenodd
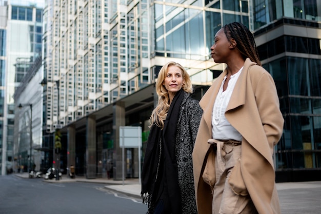
<svg viewBox="0 0 321 214">
<path fill-rule="evenodd" d="M 199 214 L 212 213 L 210 186 L 202 175 L 206 154 L 212 138 L 212 110 L 225 70 L 207 90 L 200 106 L 204 113 L 200 121 L 193 150 L 193 170 L 196 205 Z M 279 141 L 284 119 L 272 76 L 249 59 L 245 61 L 231 100 L 225 112 L 226 119 L 242 136 L 242 157 L 234 167 L 229 183 L 237 194 L 250 194 L 258 213 L 280 213 L 275 187 L 273 147 Z M 212 175 L 215 181 L 215 171 Z"/>
</svg>

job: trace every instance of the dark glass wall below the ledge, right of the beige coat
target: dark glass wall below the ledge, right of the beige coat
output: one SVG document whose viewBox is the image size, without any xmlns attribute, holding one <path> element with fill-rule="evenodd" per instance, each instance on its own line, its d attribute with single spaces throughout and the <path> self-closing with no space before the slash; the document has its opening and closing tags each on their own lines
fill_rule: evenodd
<svg viewBox="0 0 321 214">
<path fill-rule="evenodd" d="M 321 60 L 287 56 L 264 67 L 273 75 L 285 116 L 276 169 L 320 168 Z"/>
</svg>

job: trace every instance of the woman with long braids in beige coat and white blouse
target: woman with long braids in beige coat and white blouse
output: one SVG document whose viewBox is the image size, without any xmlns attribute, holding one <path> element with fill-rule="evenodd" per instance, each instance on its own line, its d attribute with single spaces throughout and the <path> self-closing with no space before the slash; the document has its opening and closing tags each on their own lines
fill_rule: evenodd
<svg viewBox="0 0 321 214">
<path fill-rule="evenodd" d="M 198 213 L 280 213 L 272 155 L 284 119 L 272 76 L 240 23 L 216 33 L 211 56 L 226 68 L 199 103 L 204 113 L 193 150 Z"/>
</svg>

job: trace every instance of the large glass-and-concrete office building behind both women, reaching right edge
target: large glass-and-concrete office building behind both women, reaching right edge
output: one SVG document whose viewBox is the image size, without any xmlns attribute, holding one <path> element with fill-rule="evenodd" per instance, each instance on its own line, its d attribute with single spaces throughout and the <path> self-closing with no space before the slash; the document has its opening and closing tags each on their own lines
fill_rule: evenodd
<svg viewBox="0 0 321 214">
<path fill-rule="evenodd" d="M 142 127 L 143 159 L 160 67 L 185 66 L 199 100 L 225 68 L 210 59 L 214 35 L 237 21 L 254 32 L 286 121 L 276 179 L 320 180 L 320 16 L 321 0 L 47 1 L 45 157 L 88 179 L 122 179 L 123 164 L 125 177 L 138 177 L 137 148 L 126 148 L 124 163 L 119 127 Z M 57 128 L 63 146 L 53 157 Z"/>
</svg>

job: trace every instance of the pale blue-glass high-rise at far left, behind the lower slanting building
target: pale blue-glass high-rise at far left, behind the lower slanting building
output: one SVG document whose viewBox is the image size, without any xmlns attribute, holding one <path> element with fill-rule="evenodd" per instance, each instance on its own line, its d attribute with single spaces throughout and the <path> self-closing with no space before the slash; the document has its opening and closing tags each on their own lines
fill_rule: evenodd
<svg viewBox="0 0 321 214">
<path fill-rule="evenodd" d="M 1 91 L 1 123 L 0 139 L 2 141 L 2 174 L 11 172 L 17 164 L 25 165 L 30 162 L 30 150 L 24 147 L 23 139 L 16 144 L 19 153 L 14 153 L 14 111 L 18 105 L 14 101 L 15 89 L 20 85 L 24 76 L 33 65 L 35 59 L 42 54 L 42 7 L 35 1 L 1 1 L 1 57 L 2 78 Z M 5 46 L 4 46 L 5 44 Z M 41 96 L 41 94 L 39 94 Z M 29 100 L 28 103 L 32 102 Z M 17 134 L 17 133 L 16 133 Z M 41 139 L 41 138 L 40 138 Z M 21 144 L 19 144 L 21 143 Z M 29 148 L 29 147 L 28 147 Z M 28 160 L 29 159 L 29 160 Z M 14 164 L 13 164 L 14 163 Z"/>
</svg>

